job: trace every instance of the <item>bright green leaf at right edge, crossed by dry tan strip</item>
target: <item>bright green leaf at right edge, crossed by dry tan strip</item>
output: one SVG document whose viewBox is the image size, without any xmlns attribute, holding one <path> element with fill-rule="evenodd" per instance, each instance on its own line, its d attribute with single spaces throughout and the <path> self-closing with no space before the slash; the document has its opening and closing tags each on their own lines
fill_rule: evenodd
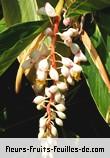
<svg viewBox="0 0 110 158">
<path fill-rule="evenodd" d="M 103 39 L 103 36 L 97 25 L 95 27 L 94 33 L 91 35 L 91 40 L 94 44 L 94 47 L 97 49 L 101 60 L 106 67 L 106 70 L 108 70 L 108 74 L 110 75 L 110 51 L 108 50 L 107 43 Z M 91 95 L 94 98 L 99 112 L 106 120 L 106 115 L 108 113 L 108 109 L 110 108 L 110 93 L 108 92 L 108 88 L 103 82 L 100 73 L 98 72 L 98 69 L 94 65 L 93 61 L 91 60 L 87 50 L 86 56 L 88 59 L 88 63 L 83 65 L 86 81 L 88 83 Z"/>
</svg>

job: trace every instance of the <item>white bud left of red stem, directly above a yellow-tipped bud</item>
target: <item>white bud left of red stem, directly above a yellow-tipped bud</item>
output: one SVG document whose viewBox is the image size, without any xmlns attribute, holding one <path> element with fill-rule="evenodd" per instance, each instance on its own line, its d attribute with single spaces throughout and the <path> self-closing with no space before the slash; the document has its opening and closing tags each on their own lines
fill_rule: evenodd
<svg viewBox="0 0 110 158">
<path fill-rule="evenodd" d="M 42 59 L 39 62 L 38 69 L 40 69 L 41 71 L 48 71 L 48 69 L 49 69 L 49 63 L 48 63 L 47 59 Z"/>
</svg>

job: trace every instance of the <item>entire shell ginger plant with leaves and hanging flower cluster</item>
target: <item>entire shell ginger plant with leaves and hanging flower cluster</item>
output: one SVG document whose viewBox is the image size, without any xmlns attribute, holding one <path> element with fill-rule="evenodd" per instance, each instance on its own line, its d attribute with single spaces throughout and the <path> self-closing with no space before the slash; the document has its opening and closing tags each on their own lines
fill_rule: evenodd
<svg viewBox="0 0 110 158">
<path fill-rule="evenodd" d="M 65 94 L 70 86 L 74 89 L 82 73 L 98 110 L 109 123 L 110 59 L 107 57 L 104 63 L 103 53 L 99 53 L 99 46 L 107 51 L 102 35 L 106 23 L 101 28 L 100 11 L 103 13 L 108 3 L 101 1 L 100 6 L 94 0 L 59 0 L 53 5 L 45 2 L 44 6 L 39 0 L 16 0 L 16 3 L 20 13 L 14 3 L 12 10 L 7 0 L 1 0 L 5 20 L 0 21 L 3 26 L 0 28 L 0 75 L 17 57 L 20 66 L 16 92 L 20 91 L 25 74 L 36 95 L 33 103 L 37 110 L 44 112 L 39 118 L 38 138 L 58 137 L 57 126 L 63 126 L 66 119 Z M 86 28 L 86 22 L 91 29 Z M 4 30 L 6 25 L 8 28 Z"/>
</svg>

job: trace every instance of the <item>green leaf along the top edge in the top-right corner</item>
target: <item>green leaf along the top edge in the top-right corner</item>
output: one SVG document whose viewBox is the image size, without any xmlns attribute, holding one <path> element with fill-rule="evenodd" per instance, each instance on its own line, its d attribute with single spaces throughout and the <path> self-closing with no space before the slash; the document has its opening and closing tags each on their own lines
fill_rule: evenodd
<svg viewBox="0 0 110 158">
<path fill-rule="evenodd" d="M 91 13 L 110 6 L 110 1 L 106 0 L 76 0 L 67 10 L 67 17 Z"/>
</svg>

